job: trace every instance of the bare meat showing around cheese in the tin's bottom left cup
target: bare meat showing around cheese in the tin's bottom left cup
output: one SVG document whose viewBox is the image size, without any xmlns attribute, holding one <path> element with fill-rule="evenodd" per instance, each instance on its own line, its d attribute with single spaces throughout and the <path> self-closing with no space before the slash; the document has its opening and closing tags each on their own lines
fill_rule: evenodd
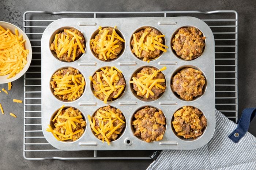
<svg viewBox="0 0 256 170">
<path fill-rule="evenodd" d="M 77 110 L 77 109 L 75 110 L 73 107 L 69 107 L 69 108 L 63 109 L 63 110 L 60 112 L 59 116 L 65 115 L 65 114 L 67 114 L 69 117 L 82 115 L 79 110 Z M 67 119 L 64 119 L 64 118 L 57 118 L 57 119 L 54 120 L 54 122 L 53 122 L 53 123 L 54 123 L 54 126 L 57 126 L 57 124 L 58 124 L 58 123 L 57 123 L 57 120 L 59 120 L 61 123 L 67 121 Z M 82 131 L 80 131 L 79 133 L 73 135 L 72 141 L 76 141 L 76 140 L 79 139 L 79 138 L 82 136 L 82 134 L 84 133 L 84 128 L 85 128 L 85 126 L 86 126 L 86 121 L 85 121 L 83 118 L 80 118 L 80 119 L 78 119 L 78 120 L 80 120 L 80 123 L 74 121 L 74 123 L 75 123 L 75 125 L 76 125 L 76 128 L 75 128 L 74 126 L 71 126 L 71 127 L 72 127 L 72 132 L 75 132 L 75 131 L 77 131 L 77 130 L 79 130 L 79 129 L 81 129 Z M 65 129 L 64 129 L 63 126 L 55 127 L 54 130 L 56 130 L 57 132 L 59 132 L 59 133 L 61 133 L 61 134 L 65 134 Z M 61 137 L 60 135 L 57 135 L 57 137 L 58 137 L 60 140 L 61 140 L 61 139 L 64 139 L 64 137 Z"/>
</svg>

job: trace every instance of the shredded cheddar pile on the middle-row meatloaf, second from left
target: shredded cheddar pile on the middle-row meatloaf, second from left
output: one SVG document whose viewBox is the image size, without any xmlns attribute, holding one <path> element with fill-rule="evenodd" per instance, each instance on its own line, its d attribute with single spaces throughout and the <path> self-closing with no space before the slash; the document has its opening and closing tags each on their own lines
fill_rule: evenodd
<svg viewBox="0 0 256 170">
<path fill-rule="evenodd" d="M 117 94 L 113 97 L 116 99 L 123 92 L 125 85 L 116 85 L 119 81 L 118 75 L 122 74 L 122 72 L 116 67 L 106 67 L 105 69 L 101 68 L 101 70 L 103 71 L 102 75 L 100 75 L 99 71 L 96 72 L 97 82 L 99 82 L 99 84 L 94 81 L 92 76 L 90 76 L 89 79 L 100 89 L 99 91 L 94 91 L 94 95 L 97 96 L 97 94 L 103 93 L 105 95 L 104 103 L 107 103 L 109 95 L 114 91 L 118 91 Z M 102 80 L 104 80 L 106 83 L 103 83 Z"/>
</svg>

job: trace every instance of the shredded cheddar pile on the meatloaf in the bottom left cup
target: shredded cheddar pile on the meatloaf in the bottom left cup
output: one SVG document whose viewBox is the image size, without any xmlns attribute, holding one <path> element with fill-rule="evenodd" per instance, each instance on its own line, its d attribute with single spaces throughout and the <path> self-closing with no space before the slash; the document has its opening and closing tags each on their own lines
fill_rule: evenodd
<svg viewBox="0 0 256 170">
<path fill-rule="evenodd" d="M 71 140 L 74 135 L 80 133 L 81 131 L 84 131 L 82 126 L 80 126 L 80 129 L 73 131 L 73 129 L 76 129 L 77 127 L 74 122 L 81 123 L 80 119 L 83 118 L 83 116 L 81 114 L 79 114 L 78 116 L 70 116 L 69 114 L 67 114 L 67 112 L 64 112 L 63 114 L 63 108 L 64 105 L 61 106 L 57 114 L 52 119 L 52 122 L 54 123 L 55 127 L 62 127 L 65 132 L 60 133 L 56 130 L 53 130 L 50 125 L 48 125 L 48 128 L 46 129 L 46 131 L 51 132 L 58 141 Z M 62 138 L 60 139 L 58 136 Z"/>
</svg>

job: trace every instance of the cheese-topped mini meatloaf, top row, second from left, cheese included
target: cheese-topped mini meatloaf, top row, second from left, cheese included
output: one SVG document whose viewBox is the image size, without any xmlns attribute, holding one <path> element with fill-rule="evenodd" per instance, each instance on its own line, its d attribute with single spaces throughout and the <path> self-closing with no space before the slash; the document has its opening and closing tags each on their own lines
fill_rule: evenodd
<svg viewBox="0 0 256 170">
<path fill-rule="evenodd" d="M 113 36 L 113 38 L 112 38 Z M 94 39 L 91 39 L 91 49 L 94 54 L 102 61 L 116 59 L 123 49 L 125 42 L 112 27 L 101 29 Z"/>
</svg>

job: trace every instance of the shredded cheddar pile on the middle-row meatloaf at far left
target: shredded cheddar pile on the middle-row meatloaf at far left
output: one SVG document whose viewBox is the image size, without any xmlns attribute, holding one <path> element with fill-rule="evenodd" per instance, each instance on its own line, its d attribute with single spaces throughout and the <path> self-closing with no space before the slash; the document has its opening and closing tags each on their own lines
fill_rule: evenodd
<svg viewBox="0 0 256 170">
<path fill-rule="evenodd" d="M 78 80 L 78 78 L 82 79 L 81 82 Z M 54 95 L 70 94 L 67 100 L 73 100 L 80 97 L 82 95 L 81 92 L 83 92 L 83 89 L 85 86 L 85 81 L 82 74 L 69 75 L 69 72 L 67 72 L 67 74 L 65 74 L 63 77 L 57 76 L 56 74 L 54 74 L 52 76 L 52 81 L 55 82 L 57 86 L 56 88 L 53 88 Z"/>
</svg>

